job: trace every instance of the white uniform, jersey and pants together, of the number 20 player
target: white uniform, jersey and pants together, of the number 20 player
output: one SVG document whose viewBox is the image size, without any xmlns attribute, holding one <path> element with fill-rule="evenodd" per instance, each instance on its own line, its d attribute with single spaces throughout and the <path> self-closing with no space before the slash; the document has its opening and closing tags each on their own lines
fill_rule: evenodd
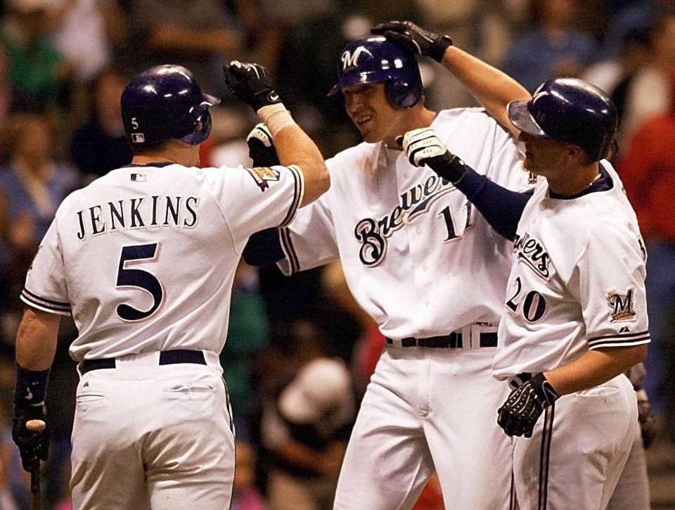
<svg viewBox="0 0 675 510">
<path fill-rule="evenodd" d="M 539 179 L 525 206 L 496 378 L 551 370 L 593 349 L 649 342 L 638 223 L 608 162 L 600 173 L 603 191 L 576 198 L 552 198 Z M 629 458 L 636 418 L 635 393 L 623 374 L 556 400 L 532 438 L 514 438 L 520 508 L 605 508 Z"/>
</svg>

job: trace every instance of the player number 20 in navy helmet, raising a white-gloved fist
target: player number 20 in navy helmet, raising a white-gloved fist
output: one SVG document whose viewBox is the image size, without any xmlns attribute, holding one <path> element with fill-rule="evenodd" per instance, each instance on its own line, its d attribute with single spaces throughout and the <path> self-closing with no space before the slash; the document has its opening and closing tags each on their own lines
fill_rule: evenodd
<svg viewBox="0 0 675 510">
<path fill-rule="evenodd" d="M 617 110 L 603 91 L 570 78 L 510 103 L 508 116 L 522 131 L 525 169 L 545 177 L 532 196 L 470 170 L 433 129 L 402 143 L 411 162 L 454 183 L 515 241 L 493 374 L 512 388 L 498 423 L 515 436 L 520 509 L 605 509 L 636 432 L 624 371 L 643 361 L 649 342 L 645 249 L 603 160 Z"/>
</svg>

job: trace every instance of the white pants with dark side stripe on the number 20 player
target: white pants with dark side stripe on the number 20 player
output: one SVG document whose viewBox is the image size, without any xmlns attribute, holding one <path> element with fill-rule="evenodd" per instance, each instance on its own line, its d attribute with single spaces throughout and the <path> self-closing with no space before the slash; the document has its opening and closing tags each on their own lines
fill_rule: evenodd
<svg viewBox="0 0 675 510">
<path fill-rule="evenodd" d="M 638 407 L 626 376 L 563 395 L 515 438 L 520 510 L 598 510 L 610 501 L 635 438 Z"/>
</svg>

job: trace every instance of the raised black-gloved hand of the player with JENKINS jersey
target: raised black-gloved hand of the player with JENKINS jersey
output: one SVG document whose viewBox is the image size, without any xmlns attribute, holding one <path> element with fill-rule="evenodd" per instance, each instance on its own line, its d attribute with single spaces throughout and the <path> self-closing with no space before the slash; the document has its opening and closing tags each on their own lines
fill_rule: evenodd
<svg viewBox="0 0 675 510">
<path fill-rule="evenodd" d="M 269 71 L 262 65 L 232 60 L 223 66 L 223 77 L 231 93 L 256 112 L 263 106 L 281 103 Z"/>
</svg>

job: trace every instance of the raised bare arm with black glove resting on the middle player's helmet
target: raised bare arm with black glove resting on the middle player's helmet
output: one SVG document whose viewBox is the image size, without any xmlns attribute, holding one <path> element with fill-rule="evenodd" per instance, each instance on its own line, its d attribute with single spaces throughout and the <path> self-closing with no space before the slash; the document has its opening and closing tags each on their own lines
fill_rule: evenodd
<svg viewBox="0 0 675 510">
<path fill-rule="evenodd" d="M 469 53 L 453 46 L 448 35 L 428 32 L 410 21 L 388 21 L 371 30 L 383 34 L 413 53 L 430 56 L 470 91 L 476 100 L 510 132 L 519 131 L 508 120 L 506 105 L 511 101 L 527 101 L 531 96 L 525 87 L 512 77 L 483 62 Z"/>
</svg>

